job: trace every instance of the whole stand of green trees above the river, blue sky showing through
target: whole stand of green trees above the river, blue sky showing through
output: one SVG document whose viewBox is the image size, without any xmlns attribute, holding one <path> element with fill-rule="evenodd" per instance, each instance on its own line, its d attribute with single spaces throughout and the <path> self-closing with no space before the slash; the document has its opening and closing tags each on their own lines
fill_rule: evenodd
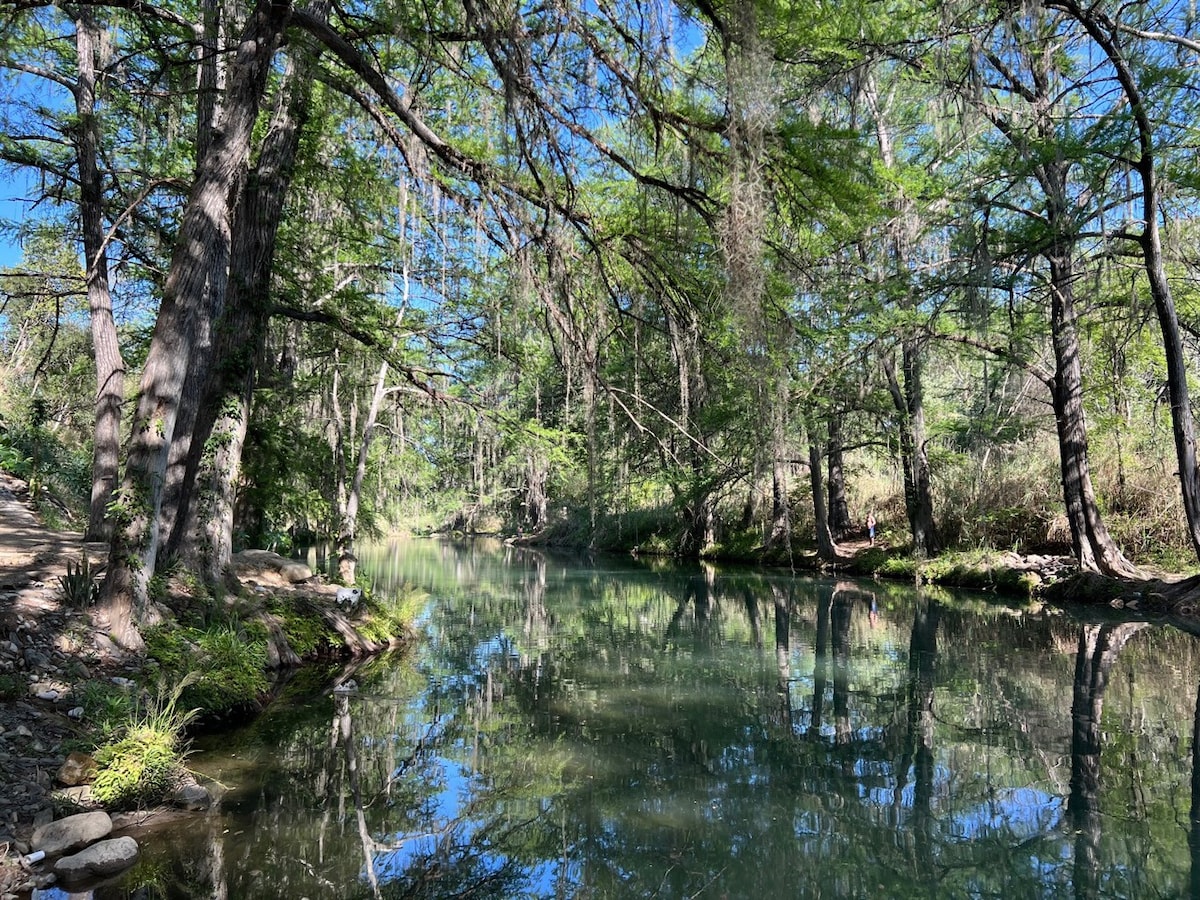
<svg viewBox="0 0 1200 900">
<path fill-rule="evenodd" d="M 167 559 L 386 527 L 1200 552 L 1188 7 L 0 22 L 6 464 L 89 456 L 121 643 Z"/>
</svg>

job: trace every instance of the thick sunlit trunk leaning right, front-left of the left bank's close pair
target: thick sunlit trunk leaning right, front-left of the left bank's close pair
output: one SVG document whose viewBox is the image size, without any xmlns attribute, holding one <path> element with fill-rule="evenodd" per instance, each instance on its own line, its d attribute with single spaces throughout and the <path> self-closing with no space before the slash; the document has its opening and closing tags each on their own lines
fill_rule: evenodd
<svg viewBox="0 0 1200 900">
<path fill-rule="evenodd" d="M 113 640 L 130 649 L 142 647 L 138 626 L 150 616 L 148 587 L 158 553 L 162 478 L 188 356 L 200 320 L 211 314 L 204 308 L 206 288 L 218 275 L 211 260 L 228 254 L 230 203 L 245 172 L 266 76 L 288 13 L 287 2 L 260 0 L 242 30 L 222 128 L 200 162 L 184 209 L 143 368 L 98 608 Z"/>
</svg>

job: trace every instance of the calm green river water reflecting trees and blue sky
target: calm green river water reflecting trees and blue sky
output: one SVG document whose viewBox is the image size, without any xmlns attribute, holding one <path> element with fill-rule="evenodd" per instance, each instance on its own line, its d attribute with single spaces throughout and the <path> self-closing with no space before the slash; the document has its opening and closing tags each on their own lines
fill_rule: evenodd
<svg viewBox="0 0 1200 900">
<path fill-rule="evenodd" d="M 421 646 L 210 740 L 220 809 L 97 896 L 1200 896 L 1175 628 L 492 542 L 364 565 L 427 592 Z"/>
</svg>

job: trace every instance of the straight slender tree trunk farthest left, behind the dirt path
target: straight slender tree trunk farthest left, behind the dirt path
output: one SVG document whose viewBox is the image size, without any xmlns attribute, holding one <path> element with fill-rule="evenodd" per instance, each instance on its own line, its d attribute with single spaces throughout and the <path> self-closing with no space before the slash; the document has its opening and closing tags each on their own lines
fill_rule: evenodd
<svg viewBox="0 0 1200 900">
<path fill-rule="evenodd" d="M 79 79 L 76 113 L 79 116 L 79 217 L 86 264 L 88 311 L 96 355 L 96 416 L 91 457 L 91 504 L 88 510 L 89 540 L 110 536 L 108 505 L 116 488 L 121 448 L 121 401 L 125 398 L 125 360 L 113 320 L 108 288 L 108 252 L 104 246 L 103 185 L 97 157 L 100 121 L 96 116 L 96 56 L 100 26 L 90 6 L 76 13 L 76 48 Z"/>
</svg>

